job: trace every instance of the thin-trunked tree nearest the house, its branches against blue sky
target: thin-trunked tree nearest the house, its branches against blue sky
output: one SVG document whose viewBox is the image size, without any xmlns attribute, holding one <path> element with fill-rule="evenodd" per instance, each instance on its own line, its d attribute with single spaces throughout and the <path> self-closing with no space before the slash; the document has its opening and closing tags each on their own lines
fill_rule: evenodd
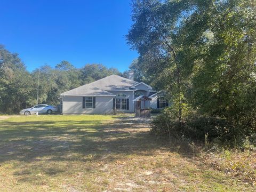
<svg viewBox="0 0 256 192">
<path fill-rule="evenodd" d="M 177 31 L 193 12 L 194 7 L 185 1 L 133 1 L 134 23 L 126 36 L 132 48 L 139 52 L 139 61 L 154 79 L 155 87 L 158 91 L 167 90 L 177 104 L 180 126 L 187 63 L 182 59 L 186 49 L 182 44 L 184 35 L 177 35 Z"/>
</svg>

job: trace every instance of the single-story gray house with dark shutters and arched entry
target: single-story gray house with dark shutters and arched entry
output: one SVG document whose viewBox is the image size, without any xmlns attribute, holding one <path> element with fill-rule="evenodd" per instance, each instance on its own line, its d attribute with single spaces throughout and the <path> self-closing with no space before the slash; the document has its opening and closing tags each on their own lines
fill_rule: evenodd
<svg viewBox="0 0 256 192">
<path fill-rule="evenodd" d="M 98 81 L 79 86 L 60 94 L 60 111 L 62 114 L 105 114 L 114 111 L 133 113 L 135 102 L 141 95 L 150 98 L 141 102 L 141 108 L 164 108 L 166 99 L 158 98 L 156 91 L 143 82 L 129 78 L 110 75 Z"/>
</svg>

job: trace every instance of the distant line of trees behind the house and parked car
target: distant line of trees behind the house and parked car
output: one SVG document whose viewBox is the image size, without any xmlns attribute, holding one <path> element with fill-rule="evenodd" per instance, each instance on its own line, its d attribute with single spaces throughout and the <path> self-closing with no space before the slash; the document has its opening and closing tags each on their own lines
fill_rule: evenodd
<svg viewBox="0 0 256 192">
<path fill-rule="evenodd" d="M 59 95 L 75 87 L 96 81 L 109 75 L 127 76 L 116 68 L 101 64 L 86 64 L 76 68 L 68 61 L 57 63 L 55 68 L 43 65 L 31 73 L 17 53 L 10 53 L 0 45 L 0 114 L 17 114 L 20 109 L 38 103 L 58 105 Z"/>
</svg>

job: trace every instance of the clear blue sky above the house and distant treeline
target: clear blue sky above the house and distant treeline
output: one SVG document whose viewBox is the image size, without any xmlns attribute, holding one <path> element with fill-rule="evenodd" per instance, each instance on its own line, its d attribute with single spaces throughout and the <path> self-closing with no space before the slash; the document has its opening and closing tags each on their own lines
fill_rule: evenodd
<svg viewBox="0 0 256 192">
<path fill-rule="evenodd" d="M 29 71 L 61 60 L 124 71 L 138 56 L 124 37 L 132 24 L 129 0 L 2 0 L 0 6 L 0 44 L 19 53 Z"/>
</svg>

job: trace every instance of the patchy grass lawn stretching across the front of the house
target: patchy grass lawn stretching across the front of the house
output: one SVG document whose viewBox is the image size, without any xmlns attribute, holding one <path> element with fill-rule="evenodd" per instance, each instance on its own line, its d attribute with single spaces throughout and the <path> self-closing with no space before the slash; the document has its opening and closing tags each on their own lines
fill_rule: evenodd
<svg viewBox="0 0 256 192">
<path fill-rule="evenodd" d="M 1 191 L 254 191 L 178 153 L 132 116 L 18 116 L 0 121 Z"/>
</svg>

